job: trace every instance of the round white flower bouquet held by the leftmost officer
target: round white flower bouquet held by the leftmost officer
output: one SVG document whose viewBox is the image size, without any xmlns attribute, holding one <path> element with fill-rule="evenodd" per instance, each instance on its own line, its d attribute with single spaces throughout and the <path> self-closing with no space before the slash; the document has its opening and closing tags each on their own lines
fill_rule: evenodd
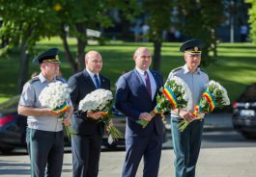
<svg viewBox="0 0 256 177">
<path fill-rule="evenodd" d="M 60 114 L 59 120 L 63 121 L 66 118 L 66 113 L 69 111 L 68 99 L 71 89 L 68 84 L 62 82 L 50 83 L 44 88 L 39 96 L 39 101 L 43 107 L 50 109 L 55 114 Z M 68 138 L 74 135 L 71 126 L 65 126 Z"/>
</svg>

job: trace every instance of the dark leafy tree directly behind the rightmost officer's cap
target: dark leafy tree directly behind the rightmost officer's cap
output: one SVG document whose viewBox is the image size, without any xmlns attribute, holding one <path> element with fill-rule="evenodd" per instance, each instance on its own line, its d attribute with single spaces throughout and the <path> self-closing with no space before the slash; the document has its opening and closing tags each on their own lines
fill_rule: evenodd
<svg viewBox="0 0 256 177">
<path fill-rule="evenodd" d="M 216 27 L 224 19 L 222 0 L 181 0 L 176 1 L 178 23 L 176 26 L 186 38 L 200 38 L 204 42 L 202 64 L 213 63 L 216 56 Z M 213 53 L 213 55 L 210 55 Z"/>
</svg>

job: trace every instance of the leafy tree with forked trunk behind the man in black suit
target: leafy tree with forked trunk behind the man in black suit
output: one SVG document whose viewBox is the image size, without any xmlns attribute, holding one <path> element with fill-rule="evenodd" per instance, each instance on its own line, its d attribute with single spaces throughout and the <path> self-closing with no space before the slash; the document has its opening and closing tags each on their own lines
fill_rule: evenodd
<svg viewBox="0 0 256 177">
<path fill-rule="evenodd" d="M 74 71 L 84 68 L 84 55 L 87 46 L 86 29 L 100 29 L 112 25 L 107 15 L 109 8 L 105 0 L 63 0 L 55 4 L 58 17 L 61 20 L 60 36 L 63 40 L 66 59 Z M 69 27 L 69 32 L 65 30 Z M 69 33 L 69 34 L 68 34 Z M 71 56 L 67 37 L 77 38 L 77 61 Z"/>
</svg>

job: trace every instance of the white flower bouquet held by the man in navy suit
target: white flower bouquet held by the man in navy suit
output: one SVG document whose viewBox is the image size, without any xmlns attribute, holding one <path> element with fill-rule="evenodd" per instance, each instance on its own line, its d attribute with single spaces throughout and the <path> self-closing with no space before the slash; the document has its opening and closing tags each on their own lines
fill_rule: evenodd
<svg viewBox="0 0 256 177">
<path fill-rule="evenodd" d="M 161 94 L 157 94 L 156 96 L 156 107 L 151 112 L 153 116 L 169 112 L 174 109 L 180 110 L 192 107 L 191 91 L 185 84 L 185 81 L 179 77 L 173 77 L 168 80 L 165 83 L 164 88 L 160 89 L 160 92 Z M 162 117 L 164 120 L 163 114 Z M 147 120 L 140 119 L 138 123 L 145 128 L 149 122 Z"/>
</svg>

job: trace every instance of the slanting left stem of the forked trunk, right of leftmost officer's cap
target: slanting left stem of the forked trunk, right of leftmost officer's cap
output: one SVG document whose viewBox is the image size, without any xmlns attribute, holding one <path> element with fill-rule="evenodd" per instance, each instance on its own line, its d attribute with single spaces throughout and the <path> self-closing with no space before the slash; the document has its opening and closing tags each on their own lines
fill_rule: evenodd
<svg viewBox="0 0 256 177">
<path fill-rule="evenodd" d="M 76 72 L 77 71 L 77 63 L 75 63 L 75 61 L 72 58 L 70 46 L 69 46 L 68 40 L 67 40 L 67 32 L 64 30 L 64 28 L 62 31 L 61 38 L 62 38 L 62 43 L 63 43 L 64 49 L 65 49 L 65 59 L 68 63 L 71 64 L 71 68 L 72 68 L 73 72 Z"/>
</svg>

